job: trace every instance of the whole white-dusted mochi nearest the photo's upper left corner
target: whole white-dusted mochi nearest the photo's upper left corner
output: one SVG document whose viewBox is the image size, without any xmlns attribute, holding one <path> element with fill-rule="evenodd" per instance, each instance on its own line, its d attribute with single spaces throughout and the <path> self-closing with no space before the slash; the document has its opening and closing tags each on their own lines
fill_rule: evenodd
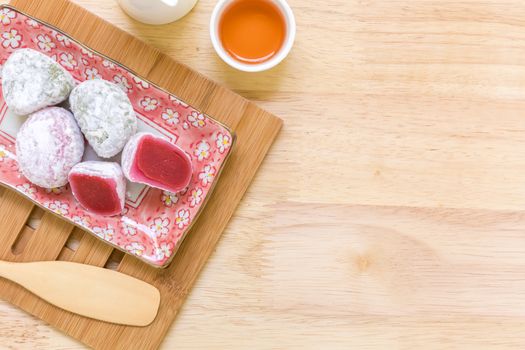
<svg viewBox="0 0 525 350">
<path fill-rule="evenodd" d="M 2 91 L 9 108 L 27 115 L 67 99 L 75 81 L 48 56 L 32 50 L 15 51 L 2 70 Z"/>
</svg>

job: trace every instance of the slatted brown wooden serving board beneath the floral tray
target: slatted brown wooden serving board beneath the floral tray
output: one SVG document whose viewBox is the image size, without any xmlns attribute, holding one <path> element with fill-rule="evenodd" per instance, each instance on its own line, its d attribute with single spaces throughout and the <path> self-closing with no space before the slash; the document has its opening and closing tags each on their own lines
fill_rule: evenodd
<svg viewBox="0 0 525 350">
<path fill-rule="evenodd" d="M 5 280 L 0 280 L 0 296 L 95 349 L 155 349 L 212 253 L 282 121 L 67 0 L 13 0 L 11 5 L 121 62 L 237 134 L 236 148 L 212 197 L 172 264 L 164 270 L 128 255 L 119 261 L 122 253 L 56 216 L 43 213 L 18 194 L 0 190 L 1 259 L 59 259 L 106 267 L 116 260 L 118 265 L 113 265 L 119 271 L 159 288 L 161 306 L 151 325 L 126 327 L 62 311 Z M 32 224 L 33 217 L 41 217 L 38 227 Z M 71 244 L 73 241 L 78 243 Z"/>
</svg>

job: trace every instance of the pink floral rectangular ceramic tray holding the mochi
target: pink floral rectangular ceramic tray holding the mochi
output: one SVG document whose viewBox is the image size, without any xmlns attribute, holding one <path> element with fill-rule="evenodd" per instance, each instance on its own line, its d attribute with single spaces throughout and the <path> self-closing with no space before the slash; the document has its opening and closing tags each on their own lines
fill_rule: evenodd
<svg viewBox="0 0 525 350">
<path fill-rule="evenodd" d="M 45 190 L 20 174 L 14 143 L 25 118 L 11 113 L 0 96 L 0 183 L 124 252 L 156 267 L 167 266 L 211 194 L 231 152 L 233 133 L 129 69 L 8 6 L 0 7 L 0 33 L 1 65 L 13 51 L 32 48 L 52 57 L 78 82 L 106 79 L 119 84 L 135 108 L 139 131 L 164 135 L 191 155 L 194 167 L 183 192 L 128 183 L 122 215 L 93 215 L 78 205 L 68 186 Z M 86 153 L 88 159 L 95 157 Z"/>
</svg>

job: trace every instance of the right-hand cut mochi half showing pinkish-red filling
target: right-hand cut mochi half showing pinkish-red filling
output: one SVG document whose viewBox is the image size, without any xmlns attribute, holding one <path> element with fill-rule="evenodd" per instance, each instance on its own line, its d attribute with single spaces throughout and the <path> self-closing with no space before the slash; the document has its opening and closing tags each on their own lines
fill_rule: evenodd
<svg viewBox="0 0 525 350">
<path fill-rule="evenodd" d="M 132 182 L 170 192 L 179 192 L 190 183 L 190 157 L 177 145 L 151 133 L 133 136 L 122 152 L 122 170 Z"/>
</svg>

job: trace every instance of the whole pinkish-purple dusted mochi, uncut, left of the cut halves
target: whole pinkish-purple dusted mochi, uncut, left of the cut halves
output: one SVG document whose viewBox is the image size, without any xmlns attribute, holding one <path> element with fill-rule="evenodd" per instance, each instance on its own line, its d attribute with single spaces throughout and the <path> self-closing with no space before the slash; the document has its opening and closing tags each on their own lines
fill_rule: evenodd
<svg viewBox="0 0 525 350">
<path fill-rule="evenodd" d="M 29 115 L 16 137 L 20 171 L 37 186 L 60 187 L 84 153 L 84 137 L 66 109 L 48 107 Z"/>
</svg>

